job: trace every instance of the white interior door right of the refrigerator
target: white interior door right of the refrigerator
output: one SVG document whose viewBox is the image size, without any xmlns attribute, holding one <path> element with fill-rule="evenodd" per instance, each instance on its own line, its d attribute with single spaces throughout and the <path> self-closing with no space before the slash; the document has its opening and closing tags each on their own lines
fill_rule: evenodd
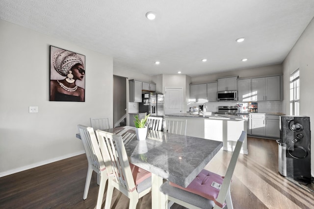
<svg viewBox="0 0 314 209">
<path fill-rule="evenodd" d="M 183 89 L 165 88 L 165 115 L 183 113 Z"/>
</svg>

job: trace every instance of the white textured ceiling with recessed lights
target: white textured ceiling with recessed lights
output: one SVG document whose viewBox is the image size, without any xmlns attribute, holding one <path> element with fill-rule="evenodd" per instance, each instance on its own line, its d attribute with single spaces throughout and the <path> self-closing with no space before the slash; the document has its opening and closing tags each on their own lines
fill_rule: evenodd
<svg viewBox="0 0 314 209">
<path fill-rule="evenodd" d="M 0 0 L 0 19 L 148 75 L 280 64 L 313 17 L 314 0 Z"/>
</svg>

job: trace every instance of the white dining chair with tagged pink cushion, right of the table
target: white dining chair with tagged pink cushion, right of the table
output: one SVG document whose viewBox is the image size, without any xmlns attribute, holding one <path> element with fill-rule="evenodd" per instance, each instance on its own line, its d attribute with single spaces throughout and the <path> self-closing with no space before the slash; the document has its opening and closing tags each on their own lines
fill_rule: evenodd
<svg viewBox="0 0 314 209">
<path fill-rule="evenodd" d="M 226 205 L 228 209 L 233 209 L 230 183 L 245 137 L 246 132 L 242 131 L 225 177 L 203 169 L 186 188 L 166 181 L 160 186 L 160 191 L 165 194 L 167 200 L 189 209 L 220 209 Z"/>
</svg>

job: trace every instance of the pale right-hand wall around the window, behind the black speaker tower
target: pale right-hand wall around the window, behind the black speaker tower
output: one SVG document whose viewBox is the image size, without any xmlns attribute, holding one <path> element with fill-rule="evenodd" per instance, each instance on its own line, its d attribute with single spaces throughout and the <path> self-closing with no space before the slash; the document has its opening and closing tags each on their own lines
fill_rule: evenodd
<svg viewBox="0 0 314 209">
<path fill-rule="evenodd" d="M 290 74 L 300 70 L 300 116 L 309 116 L 311 130 L 314 131 L 314 20 L 309 23 L 303 34 L 291 49 L 285 61 L 284 69 L 284 102 L 286 114 L 290 113 L 289 105 L 289 77 Z M 314 176 L 314 140 L 311 136 L 311 165 L 312 176 Z"/>
</svg>

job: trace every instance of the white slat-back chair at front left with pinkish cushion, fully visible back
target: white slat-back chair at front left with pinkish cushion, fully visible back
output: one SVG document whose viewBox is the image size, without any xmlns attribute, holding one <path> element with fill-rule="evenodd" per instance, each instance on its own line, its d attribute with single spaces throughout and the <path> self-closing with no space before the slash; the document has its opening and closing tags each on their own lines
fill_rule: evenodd
<svg viewBox="0 0 314 209">
<path fill-rule="evenodd" d="M 121 135 L 101 130 L 96 134 L 108 174 L 105 209 L 110 209 L 114 188 L 130 198 L 129 209 L 135 209 L 138 199 L 152 190 L 152 174 L 129 163 Z"/>
</svg>

